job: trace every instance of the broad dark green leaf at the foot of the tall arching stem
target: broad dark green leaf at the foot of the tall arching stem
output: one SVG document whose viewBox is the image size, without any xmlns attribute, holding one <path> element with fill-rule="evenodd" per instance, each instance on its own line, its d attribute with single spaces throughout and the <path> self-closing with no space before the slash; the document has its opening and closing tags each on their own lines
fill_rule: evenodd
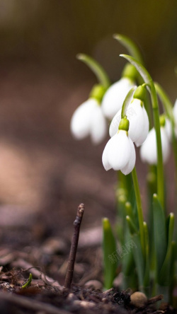
<svg viewBox="0 0 177 314">
<path fill-rule="evenodd" d="M 159 281 L 161 267 L 164 264 L 167 250 L 166 240 L 166 221 L 164 210 L 161 207 L 159 198 L 156 194 L 153 195 L 153 214 L 154 214 L 154 247 L 156 253 L 156 275 Z"/>
</svg>

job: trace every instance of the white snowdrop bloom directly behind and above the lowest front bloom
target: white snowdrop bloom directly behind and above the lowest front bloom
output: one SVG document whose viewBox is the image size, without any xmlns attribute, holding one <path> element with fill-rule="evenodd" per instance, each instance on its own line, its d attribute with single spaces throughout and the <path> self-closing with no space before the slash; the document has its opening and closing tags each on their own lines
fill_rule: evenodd
<svg viewBox="0 0 177 314">
<path fill-rule="evenodd" d="M 127 107 L 126 111 L 127 119 L 130 122 L 130 127 L 128 135 L 136 146 L 142 145 L 142 143 L 147 138 L 149 132 L 149 119 L 147 112 L 144 108 L 144 105 L 141 100 L 133 98 L 132 103 Z M 121 109 L 113 117 L 112 122 L 110 123 L 109 133 L 112 137 L 116 132 L 118 132 L 118 127 L 121 120 Z"/>
</svg>

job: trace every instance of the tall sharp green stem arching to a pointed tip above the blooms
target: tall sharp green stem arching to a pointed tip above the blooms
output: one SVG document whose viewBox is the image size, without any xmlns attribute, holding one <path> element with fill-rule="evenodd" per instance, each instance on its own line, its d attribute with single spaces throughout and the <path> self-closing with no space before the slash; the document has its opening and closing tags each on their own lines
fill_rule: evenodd
<svg viewBox="0 0 177 314">
<path fill-rule="evenodd" d="M 132 65 L 134 65 L 141 74 L 144 82 L 147 83 L 147 89 L 151 95 L 152 100 L 152 109 L 154 117 L 154 127 L 156 130 L 156 146 L 157 146 L 157 194 L 159 196 L 159 201 L 161 206 L 164 208 L 164 168 L 163 168 L 163 159 L 161 151 L 161 132 L 160 132 L 160 122 L 159 122 L 159 105 L 156 96 L 156 88 L 152 81 L 152 77 L 149 75 L 148 71 L 137 62 L 134 58 L 127 56 L 127 54 L 120 54 L 120 57 L 127 59 Z"/>
</svg>

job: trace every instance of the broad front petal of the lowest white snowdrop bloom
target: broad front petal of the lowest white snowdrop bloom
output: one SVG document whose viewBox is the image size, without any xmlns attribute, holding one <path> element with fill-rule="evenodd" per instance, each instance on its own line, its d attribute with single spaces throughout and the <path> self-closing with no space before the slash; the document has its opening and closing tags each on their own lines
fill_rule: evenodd
<svg viewBox="0 0 177 314">
<path fill-rule="evenodd" d="M 110 139 L 108 149 L 108 163 L 114 170 L 120 170 L 127 165 L 130 158 L 131 148 L 127 133 L 120 130 Z"/>
</svg>

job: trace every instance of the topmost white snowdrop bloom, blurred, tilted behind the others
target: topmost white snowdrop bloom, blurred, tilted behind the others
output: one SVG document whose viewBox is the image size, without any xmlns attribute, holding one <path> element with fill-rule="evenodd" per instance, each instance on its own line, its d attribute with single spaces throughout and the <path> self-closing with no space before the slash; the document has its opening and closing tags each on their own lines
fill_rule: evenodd
<svg viewBox="0 0 177 314">
<path fill-rule="evenodd" d="M 110 120 L 113 119 L 116 112 L 122 107 L 127 93 L 133 86 L 135 84 L 130 79 L 123 77 L 108 88 L 108 91 L 103 96 L 101 105 L 105 117 Z"/>
</svg>

